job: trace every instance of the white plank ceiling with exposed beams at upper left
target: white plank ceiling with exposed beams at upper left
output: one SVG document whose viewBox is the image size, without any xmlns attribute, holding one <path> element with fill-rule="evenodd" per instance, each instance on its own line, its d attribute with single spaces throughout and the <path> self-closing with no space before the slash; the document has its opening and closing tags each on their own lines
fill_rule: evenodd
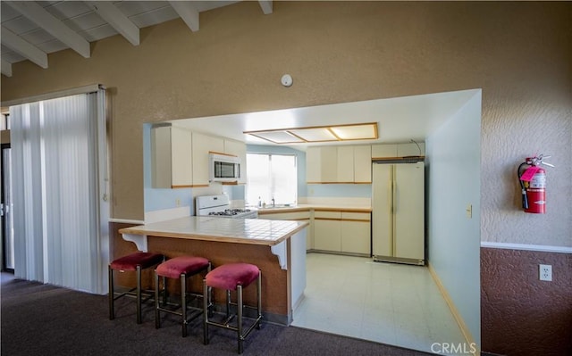
<svg viewBox="0 0 572 356">
<path fill-rule="evenodd" d="M 2 1 L 2 74 L 12 63 L 29 60 L 48 68 L 47 54 L 71 48 L 85 58 L 89 43 L 121 34 L 139 46 L 139 29 L 180 17 L 191 31 L 199 29 L 200 12 L 238 1 Z M 262 12 L 273 2 L 258 1 Z"/>
</svg>

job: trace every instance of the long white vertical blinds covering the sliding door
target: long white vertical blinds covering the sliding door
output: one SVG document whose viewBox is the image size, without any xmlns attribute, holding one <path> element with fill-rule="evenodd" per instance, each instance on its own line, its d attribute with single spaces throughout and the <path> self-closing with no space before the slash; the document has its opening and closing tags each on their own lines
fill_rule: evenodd
<svg viewBox="0 0 572 356">
<path fill-rule="evenodd" d="M 105 90 L 11 106 L 10 115 L 14 275 L 105 293 Z"/>
</svg>

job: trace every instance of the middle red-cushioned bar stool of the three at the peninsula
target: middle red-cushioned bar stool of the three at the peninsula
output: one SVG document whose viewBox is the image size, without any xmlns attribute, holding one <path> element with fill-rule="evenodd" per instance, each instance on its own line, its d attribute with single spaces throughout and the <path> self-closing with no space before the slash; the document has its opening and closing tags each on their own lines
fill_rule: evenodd
<svg viewBox="0 0 572 356">
<path fill-rule="evenodd" d="M 187 324 L 189 320 L 195 319 L 203 311 L 202 308 L 196 308 L 198 313 L 193 315 L 190 319 L 187 317 L 187 277 L 197 275 L 202 271 L 207 273 L 211 270 L 211 263 L 202 257 L 195 256 L 180 256 L 174 257 L 171 260 L 164 261 L 155 269 L 155 327 L 161 327 L 161 311 L 181 316 L 182 319 L 182 337 L 187 336 Z M 159 302 L 159 276 L 163 278 L 164 302 L 163 306 Z M 172 309 L 167 308 L 166 301 L 166 279 L 165 278 L 179 278 L 181 279 L 181 304 L 171 304 Z M 197 297 L 203 297 L 203 294 L 192 294 Z M 181 311 L 178 311 L 181 309 Z"/>
</svg>

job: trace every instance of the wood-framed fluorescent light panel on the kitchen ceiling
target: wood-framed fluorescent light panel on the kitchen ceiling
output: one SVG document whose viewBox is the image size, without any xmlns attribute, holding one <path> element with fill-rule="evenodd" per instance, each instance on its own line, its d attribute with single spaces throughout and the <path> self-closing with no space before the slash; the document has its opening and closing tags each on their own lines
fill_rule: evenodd
<svg viewBox="0 0 572 356">
<path fill-rule="evenodd" d="M 244 131 L 243 133 L 265 139 L 274 144 L 374 140 L 378 137 L 377 122 L 310 128 L 280 128 Z"/>
</svg>

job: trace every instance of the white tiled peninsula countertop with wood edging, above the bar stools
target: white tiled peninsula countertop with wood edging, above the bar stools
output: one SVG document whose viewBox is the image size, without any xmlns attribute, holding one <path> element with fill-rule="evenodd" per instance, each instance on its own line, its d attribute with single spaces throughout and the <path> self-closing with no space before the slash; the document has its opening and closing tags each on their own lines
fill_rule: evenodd
<svg viewBox="0 0 572 356">
<path fill-rule="evenodd" d="M 305 221 L 189 216 L 131 228 L 123 235 L 160 236 L 239 244 L 280 244 L 308 225 Z"/>
</svg>

